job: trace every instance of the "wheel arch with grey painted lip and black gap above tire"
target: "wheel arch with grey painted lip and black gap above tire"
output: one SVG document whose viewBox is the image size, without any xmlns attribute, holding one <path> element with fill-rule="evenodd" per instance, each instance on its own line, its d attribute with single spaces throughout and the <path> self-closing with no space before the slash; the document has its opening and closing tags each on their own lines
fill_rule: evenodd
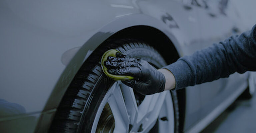
<svg viewBox="0 0 256 133">
<path fill-rule="evenodd" d="M 109 39 L 118 39 L 118 38 L 134 38 L 138 40 L 143 40 L 152 44 L 152 47 L 157 49 L 157 51 L 163 56 L 167 64 L 175 62 L 180 55 L 182 55 L 180 46 L 175 36 L 170 32 L 166 31 L 168 26 L 164 23 L 159 22 L 158 20 L 142 15 L 131 15 L 132 19 L 140 18 L 140 21 L 135 22 L 134 24 L 127 24 L 125 26 L 120 26 L 123 28 L 113 28 L 109 30 L 109 27 L 120 23 L 120 21 L 112 22 L 105 25 L 100 31 L 96 32 L 86 43 L 77 51 L 77 53 L 72 57 L 72 60 L 66 66 L 64 72 L 60 76 L 58 82 L 56 83 L 49 99 L 45 105 L 44 110 L 49 110 L 58 107 L 64 93 L 70 82 L 72 81 L 75 74 L 78 72 L 79 68 L 82 66 L 84 61 L 89 57 L 93 51 L 102 45 L 102 43 Z M 135 17 L 134 17 L 135 16 Z M 125 17 L 121 19 L 122 22 L 131 19 L 130 17 Z M 145 23 L 147 21 L 147 23 Z M 108 27 L 108 28 L 106 28 Z M 160 45 L 158 45 L 160 44 Z M 171 50 L 171 51 L 170 51 Z M 178 95 L 179 97 L 179 95 Z M 48 117 L 48 118 L 46 118 Z M 49 116 L 41 116 L 40 119 L 49 119 L 52 118 Z M 40 126 L 46 121 L 41 122 Z M 38 129 L 40 130 L 40 129 Z"/>
</svg>

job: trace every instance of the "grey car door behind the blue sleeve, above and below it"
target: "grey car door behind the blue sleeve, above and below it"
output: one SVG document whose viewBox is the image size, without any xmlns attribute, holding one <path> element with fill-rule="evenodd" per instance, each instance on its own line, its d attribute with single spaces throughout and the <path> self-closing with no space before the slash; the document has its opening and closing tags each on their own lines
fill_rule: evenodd
<svg viewBox="0 0 256 133">
<path fill-rule="evenodd" d="M 195 0 L 200 5 L 201 46 L 209 47 L 213 43 L 224 41 L 239 29 L 227 13 L 228 0 Z M 243 80 L 241 80 L 243 79 Z M 201 88 L 201 119 L 210 114 L 225 99 L 241 86 L 244 76 L 238 73 L 229 78 L 220 78 L 213 82 L 203 83 Z"/>
</svg>

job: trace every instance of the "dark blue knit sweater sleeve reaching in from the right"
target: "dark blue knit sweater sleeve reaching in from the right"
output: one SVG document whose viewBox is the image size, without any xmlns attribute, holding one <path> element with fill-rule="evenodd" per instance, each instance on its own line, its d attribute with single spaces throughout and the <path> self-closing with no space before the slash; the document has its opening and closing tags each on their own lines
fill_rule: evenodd
<svg viewBox="0 0 256 133">
<path fill-rule="evenodd" d="M 184 56 L 163 68 L 173 73 L 175 89 L 228 77 L 234 72 L 256 71 L 256 25 L 251 31 Z"/>
</svg>

